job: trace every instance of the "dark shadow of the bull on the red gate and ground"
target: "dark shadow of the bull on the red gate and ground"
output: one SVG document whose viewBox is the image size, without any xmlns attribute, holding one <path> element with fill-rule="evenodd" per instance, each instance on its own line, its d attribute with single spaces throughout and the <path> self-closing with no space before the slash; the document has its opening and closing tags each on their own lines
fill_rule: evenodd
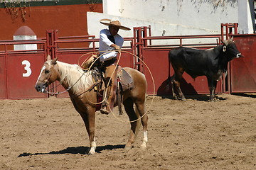
<svg viewBox="0 0 256 170">
<path fill-rule="evenodd" d="M 169 88 L 167 86 L 167 79 L 162 82 L 161 86 L 159 86 L 159 89 L 157 89 L 157 95 L 161 96 L 162 98 L 169 98 L 169 99 L 176 99 L 173 97 L 172 90 L 171 90 L 171 83 L 169 84 Z M 183 92 L 186 99 L 192 99 L 197 101 L 208 101 L 209 95 L 206 94 L 198 94 L 196 89 L 192 86 L 191 83 L 188 83 L 185 79 L 181 80 L 181 91 Z M 176 92 L 176 89 L 175 89 Z M 218 97 L 218 94 L 216 94 L 216 98 L 218 100 L 223 101 L 225 98 Z"/>
</svg>

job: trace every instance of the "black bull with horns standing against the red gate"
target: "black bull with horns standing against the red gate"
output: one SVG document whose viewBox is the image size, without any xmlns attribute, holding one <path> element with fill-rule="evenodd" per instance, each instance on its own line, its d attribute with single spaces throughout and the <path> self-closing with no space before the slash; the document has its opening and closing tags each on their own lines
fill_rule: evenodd
<svg viewBox="0 0 256 170">
<path fill-rule="evenodd" d="M 228 62 L 234 58 L 242 57 L 235 46 L 233 38 L 223 41 L 223 45 L 209 50 L 198 50 L 188 47 L 176 47 L 169 52 L 169 78 L 174 97 L 174 86 L 178 92 L 177 98 L 186 101 L 180 84 L 183 72 L 188 73 L 193 79 L 198 76 L 206 76 L 210 90 L 210 101 L 215 101 L 215 89 L 218 80 L 227 71 Z M 170 63 L 174 69 L 174 75 L 170 77 Z"/>
</svg>

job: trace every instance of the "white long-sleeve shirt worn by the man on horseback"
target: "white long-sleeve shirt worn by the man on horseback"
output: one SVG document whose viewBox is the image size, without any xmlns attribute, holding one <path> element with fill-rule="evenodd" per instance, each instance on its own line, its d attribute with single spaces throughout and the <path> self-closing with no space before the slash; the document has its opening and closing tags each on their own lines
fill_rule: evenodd
<svg viewBox="0 0 256 170">
<path fill-rule="evenodd" d="M 117 54 L 118 54 L 118 52 L 113 51 L 114 47 L 110 47 L 110 45 L 112 45 L 114 43 L 111 42 L 107 38 L 107 35 L 111 35 L 110 30 L 103 29 L 100 31 L 100 47 L 99 47 L 99 51 L 100 51 L 100 55 L 101 55 L 100 62 L 110 60 L 114 57 L 117 57 Z M 122 47 L 122 45 L 124 44 L 124 38 L 122 38 L 119 34 L 114 35 L 114 42 L 119 47 Z M 106 51 L 110 51 L 110 52 L 106 52 Z M 104 54 L 104 55 L 102 55 L 102 54 Z"/>
</svg>

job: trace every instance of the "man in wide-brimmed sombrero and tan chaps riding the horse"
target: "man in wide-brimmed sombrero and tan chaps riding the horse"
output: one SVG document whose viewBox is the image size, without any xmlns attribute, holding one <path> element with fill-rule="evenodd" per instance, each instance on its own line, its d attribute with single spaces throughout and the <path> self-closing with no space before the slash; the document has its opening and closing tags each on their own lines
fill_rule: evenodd
<svg viewBox="0 0 256 170">
<path fill-rule="evenodd" d="M 105 100 L 102 103 L 101 113 L 108 114 L 110 110 L 114 108 L 114 98 L 116 96 L 117 89 L 117 55 L 118 52 L 115 50 L 121 50 L 124 43 L 124 38 L 122 38 L 118 33 L 119 29 L 131 30 L 130 28 L 121 26 L 118 18 L 102 19 L 100 23 L 108 26 L 108 29 L 100 30 L 100 62 L 105 68 L 105 77 L 107 87 L 107 96 L 104 93 Z M 108 105 L 108 106 L 107 106 Z"/>
</svg>

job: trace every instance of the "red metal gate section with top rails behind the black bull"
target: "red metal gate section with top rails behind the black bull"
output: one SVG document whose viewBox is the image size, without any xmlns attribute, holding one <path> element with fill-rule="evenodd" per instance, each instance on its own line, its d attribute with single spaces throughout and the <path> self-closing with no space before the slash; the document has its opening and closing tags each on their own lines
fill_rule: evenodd
<svg viewBox="0 0 256 170">
<path fill-rule="evenodd" d="M 140 70 L 146 75 L 148 81 L 148 94 L 171 95 L 171 89 L 166 88 L 168 78 L 168 53 L 169 50 L 178 46 L 195 47 L 198 49 L 209 49 L 220 45 L 221 40 L 234 37 L 238 50 L 244 58 L 232 60 L 228 63 L 228 71 L 223 74 L 223 78 L 218 81 L 216 93 L 245 93 L 256 92 L 256 35 L 239 35 L 238 23 L 222 23 L 220 25 L 220 35 L 185 35 L 185 36 L 151 36 L 148 33 L 150 27 L 134 28 L 134 40 L 138 49 L 138 56 L 149 67 L 146 69 L 143 64 Z M 140 33 L 142 32 L 142 33 Z M 136 33 L 136 34 L 135 34 Z M 136 36 L 135 36 L 136 35 Z M 136 39 L 135 39 L 136 37 Z M 154 41 L 167 41 L 167 45 L 158 45 Z M 201 43 L 204 41 L 204 43 Z M 191 43 L 192 42 L 192 43 Z M 198 42 L 198 43 L 197 43 Z M 153 90 L 150 72 L 154 76 L 156 85 Z M 173 74 L 171 69 L 171 74 Z M 184 94 L 209 94 L 206 77 L 192 79 L 188 74 L 183 74 L 181 89 Z"/>
</svg>

